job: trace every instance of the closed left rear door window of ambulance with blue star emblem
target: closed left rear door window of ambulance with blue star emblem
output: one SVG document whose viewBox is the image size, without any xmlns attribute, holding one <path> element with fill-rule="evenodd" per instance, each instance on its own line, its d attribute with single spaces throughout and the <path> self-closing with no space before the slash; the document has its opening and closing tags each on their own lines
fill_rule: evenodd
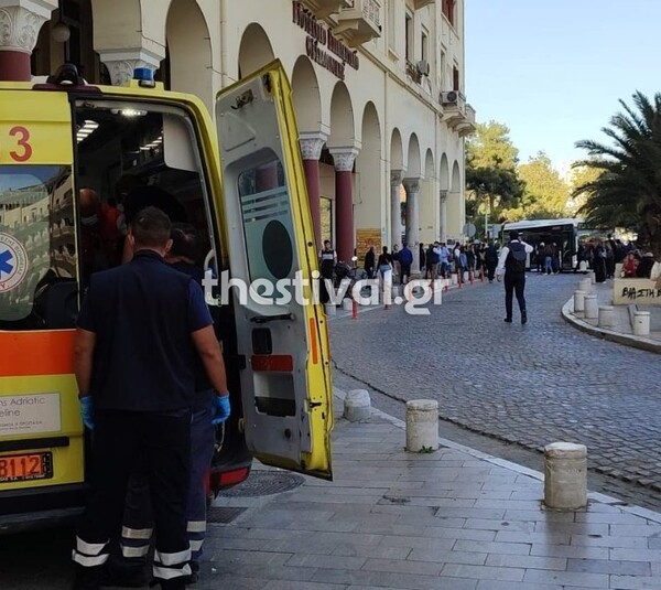
<svg viewBox="0 0 661 590">
<path fill-rule="evenodd" d="M 0 330 L 73 328 L 72 194 L 68 167 L 0 165 Z"/>
</svg>

